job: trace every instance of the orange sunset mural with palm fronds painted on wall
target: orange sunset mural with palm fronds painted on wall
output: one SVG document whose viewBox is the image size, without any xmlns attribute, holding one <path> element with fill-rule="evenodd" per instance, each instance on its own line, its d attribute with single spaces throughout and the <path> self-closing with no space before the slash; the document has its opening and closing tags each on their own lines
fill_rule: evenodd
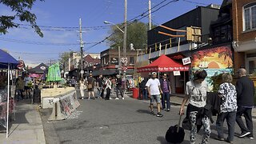
<svg viewBox="0 0 256 144">
<path fill-rule="evenodd" d="M 233 74 L 233 67 L 233 53 L 230 46 L 198 50 L 192 54 L 192 74 L 196 70 L 206 70 L 206 81 L 210 90 L 213 89 L 210 77 L 227 72 Z"/>
</svg>

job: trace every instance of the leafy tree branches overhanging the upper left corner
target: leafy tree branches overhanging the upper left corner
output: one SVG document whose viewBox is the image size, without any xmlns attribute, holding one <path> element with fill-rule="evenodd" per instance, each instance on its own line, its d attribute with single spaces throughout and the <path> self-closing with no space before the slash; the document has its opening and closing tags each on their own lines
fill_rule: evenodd
<svg viewBox="0 0 256 144">
<path fill-rule="evenodd" d="M 31 27 L 34 28 L 34 31 L 40 37 L 43 37 L 42 31 L 35 22 L 37 19 L 36 15 L 30 12 L 35 1 L 36 0 L 0 0 L 0 3 L 10 7 L 10 9 L 16 13 L 14 15 L 0 15 L 0 34 L 6 34 L 8 29 L 18 27 L 19 24 L 14 22 L 14 20 L 18 18 L 21 22 L 29 22 Z M 39 1 L 43 2 L 44 0 Z"/>
</svg>

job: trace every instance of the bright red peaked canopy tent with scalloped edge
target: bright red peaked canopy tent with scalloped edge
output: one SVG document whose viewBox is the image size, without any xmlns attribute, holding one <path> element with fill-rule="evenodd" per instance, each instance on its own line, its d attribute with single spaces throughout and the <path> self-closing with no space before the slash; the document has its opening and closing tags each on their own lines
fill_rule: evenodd
<svg viewBox="0 0 256 144">
<path fill-rule="evenodd" d="M 154 62 L 147 66 L 138 67 L 137 72 L 167 72 L 167 71 L 188 71 L 189 66 L 183 66 L 182 64 L 175 62 L 166 55 L 160 56 Z"/>
</svg>

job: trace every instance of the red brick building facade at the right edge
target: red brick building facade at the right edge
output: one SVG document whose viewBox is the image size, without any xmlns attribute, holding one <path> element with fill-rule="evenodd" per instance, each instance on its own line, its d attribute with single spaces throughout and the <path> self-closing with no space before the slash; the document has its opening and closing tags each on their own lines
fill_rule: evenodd
<svg viewBox="0 0 256 144">
<path fill-rule="evenodd" d="M 256 68 L 256 2 L 234 0 L 232 3 L 234 34 L 234 69 L 244 66 L 249 74 Z"/>
</svg>

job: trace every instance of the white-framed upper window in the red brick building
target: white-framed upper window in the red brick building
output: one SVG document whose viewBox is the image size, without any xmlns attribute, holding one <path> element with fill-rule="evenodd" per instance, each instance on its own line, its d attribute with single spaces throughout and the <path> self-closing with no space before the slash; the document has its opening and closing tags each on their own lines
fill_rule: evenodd
<svg viewBox="0 0 256 144">
<path fill-rule="evenodd" d="M 243 30 L 256 29 L 256 2 L 243 6 Z"/>
</svg>

